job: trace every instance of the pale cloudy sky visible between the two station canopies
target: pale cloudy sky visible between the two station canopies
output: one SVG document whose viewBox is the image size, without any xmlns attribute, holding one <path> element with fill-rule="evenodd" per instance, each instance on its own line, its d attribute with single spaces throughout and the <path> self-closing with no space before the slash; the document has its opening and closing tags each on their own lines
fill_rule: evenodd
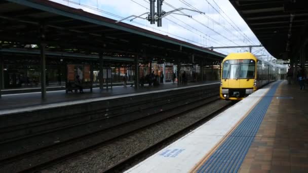
<svg viewBox="0 0 308 173">
<path fill-rule="evenodd" d="M 69 7 L 121 20 L 131 15 L 141 15 L 149 12 L 149 0 L 50 0 Z M 147 20 L 135 19 L 129 23 L 147 30 L 190 42 L 201 47 L 225 47 L 259 45 L 260 42 L 233 8 L 228 0 L 165 0 L 163 11 L 174 8 L 195 9 L 205 14 L 182 11 L 182 15 L 169 15 L 163 18 L 163 27 L 151 25 Z M 144 16 L 146 17 L 146 16 Z M 249 49 L 216 49 L 227 55 L 231 52 L 245 52 Z M 270 54 L 262 48 L 253 48 L 255 55 Z"/>
</svg>

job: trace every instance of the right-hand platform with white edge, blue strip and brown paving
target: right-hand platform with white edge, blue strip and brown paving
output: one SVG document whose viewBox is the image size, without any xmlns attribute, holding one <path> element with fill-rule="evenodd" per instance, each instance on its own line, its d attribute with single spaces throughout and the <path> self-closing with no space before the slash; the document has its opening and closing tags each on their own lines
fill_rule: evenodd
<svg viewBox="0 0 308 173">
<path fill-rule="evenodd" d="M 307 96 L 268 84 L 126 172 L 306 172 Z"/>
</svg>

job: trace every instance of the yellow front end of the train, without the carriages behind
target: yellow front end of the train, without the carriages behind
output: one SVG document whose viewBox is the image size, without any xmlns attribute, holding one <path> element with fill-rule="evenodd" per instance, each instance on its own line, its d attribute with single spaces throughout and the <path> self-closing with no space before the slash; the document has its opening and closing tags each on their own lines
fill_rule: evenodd
<svg viewBox="0 0 308 173">
<path fill-rule="evenodd" d="M 222 64 L 220 98 L 224 100 L 242 100 L 256 91 L 256 58 L 236 59 L 227 56 Z"/>
</svg>

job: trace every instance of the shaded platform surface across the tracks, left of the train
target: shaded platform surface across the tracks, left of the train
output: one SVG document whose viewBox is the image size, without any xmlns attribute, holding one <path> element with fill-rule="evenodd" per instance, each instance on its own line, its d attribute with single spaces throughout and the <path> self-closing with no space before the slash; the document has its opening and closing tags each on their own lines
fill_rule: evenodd
<svg viewBox="0 0 308 173">
<path fill-rule="evenodd" d="M 42 106 L 42 105 L 50 105 L 50 104 L 58 104 L 57 106 L 63 106 L 67 102 L 87 102 L 87 99 L 95 99 L 95 98 L 104 98 L 108 99 L 114 96 L 122 96 L 127 94 L 147 94 L 146 92 L 149 91 L 163 91 L 167 89 L 177 89 L 183 88 L 187 86 L 198 86 L 202 84 L 211 84 L 211 83 L 219 83 L 219 81 L 206 81 L 206 82 L 191 82 L 187 84 L 177 85 L 177 83 L 164 83 L 160 84 L 159 86 L 143 86 L 140 87 L 138 90 L 135 90 L 134 87 L 127 85 L 124 88 L 123 85 L 121 86 L 113 86 L 112 89 L 103 89 L 100 90 L 99 88 L 94 88 L 93 92 L 90 93 L 89 89 L 84 90 L 84 94 L 80 93 L 65 93 L 65 91 L 50 91 L 46 94 L 46 99 L 41 99 L 41 92 L 35 93 L 22 93 L 22 94 L 8 94 L 3 95 L 0 98 L 0 112 L 4 112 L 5 110 L 16 110 L 17 108 L 27 108 L 33 106 Z M 124 96 L 123 96 L 124 97 Z M 89 100 L 93 101 L 93 100 Z M 60 104 L 61 103 L 61 104 Z M 73 103 L 71 103 L 73 104 Z"/>
</svg>

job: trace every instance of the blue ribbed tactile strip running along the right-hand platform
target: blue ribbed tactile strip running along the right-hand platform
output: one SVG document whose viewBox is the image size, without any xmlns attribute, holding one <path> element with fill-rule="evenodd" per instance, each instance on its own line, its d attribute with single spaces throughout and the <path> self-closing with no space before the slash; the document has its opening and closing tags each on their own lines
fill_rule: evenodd
<svg viewBox="0 0 308 173">
<path fill-rule="evenodd" d="M 237 172 L 239 170 L 279 84 L 280 82 L 277 82 L 272 86 L 197 172 Z"/>
</svg>

